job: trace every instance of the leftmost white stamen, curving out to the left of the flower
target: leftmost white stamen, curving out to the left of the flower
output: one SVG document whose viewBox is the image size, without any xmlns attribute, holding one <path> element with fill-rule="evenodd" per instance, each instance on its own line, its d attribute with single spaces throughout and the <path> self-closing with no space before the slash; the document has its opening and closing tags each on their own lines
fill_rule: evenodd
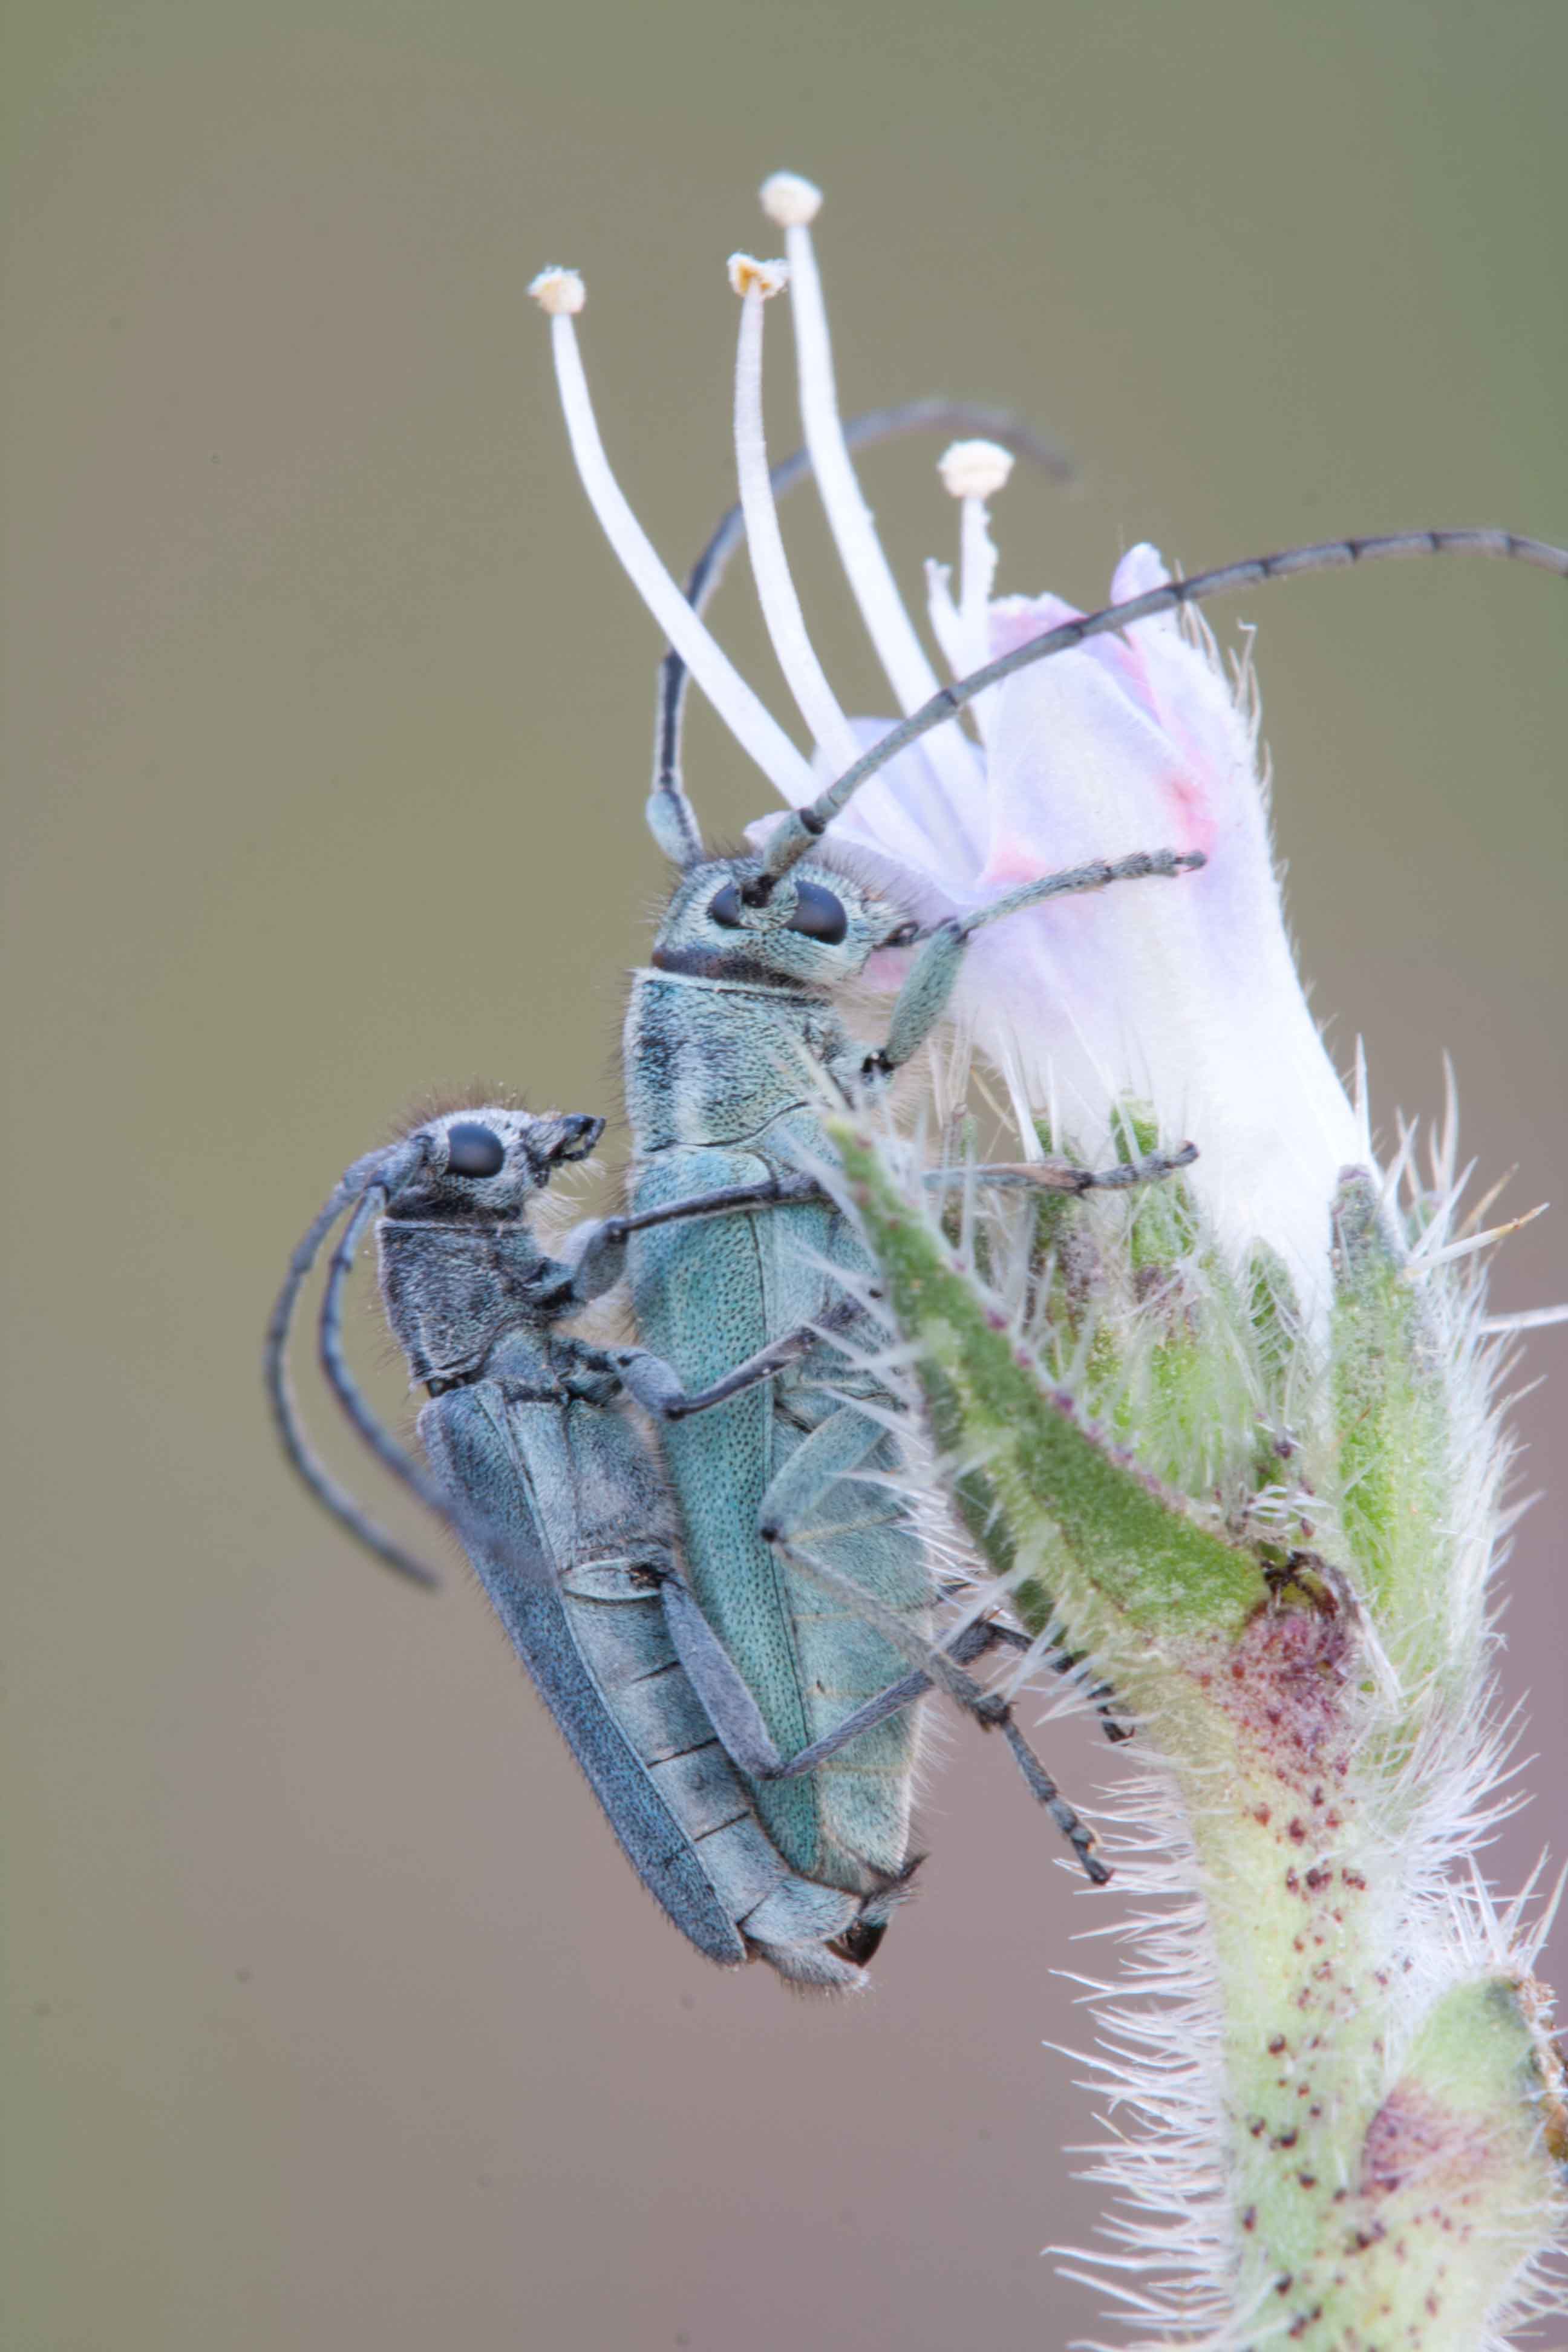
<svg viewBox="0 0 1568 2352">
<path fill-rule="evenodd" d="M 583 308 L 583 282 L 574 270 L 543 270 L 529 294 L 550 315 L 555 381 L 562 395 L 571 456 L 604 536 L 621 557 L 665 637 L 682 656 L 693 680 L 719 713 L 741 748 L 757 762 L 769 783 L 795 807 L 811 800 L 816 776 L 771 710 L 745 684 L 729 654 L 708 635 L 686 597 L 654 550 L 654 541 L 632 515 L 621 485 L 609 470 L 604 442 L 588 397 L 588 376 L 578 353 L 571 313 Z"/>
</svg>

